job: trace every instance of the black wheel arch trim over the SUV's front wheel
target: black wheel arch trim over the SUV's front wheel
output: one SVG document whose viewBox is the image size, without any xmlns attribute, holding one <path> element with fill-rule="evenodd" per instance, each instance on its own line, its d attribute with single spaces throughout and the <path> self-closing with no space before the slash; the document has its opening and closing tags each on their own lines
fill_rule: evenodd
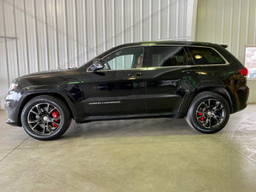
<svg viewBox="0 0 256 192">
<path fill-rule="evenodd" d="M 55 96 L 56 98 L 61 99 L 61 102 L 64 102 L 64 104 L 67 106 L 67 108 L 71 114 L 71 118 L 73 119 L 73 112 L 64 96 L 61 96 L 60 93 L 56 93 L 56 92 L 37 92 L 37 93 L 31 93 L 31 94 L 27 95 L 24 98 L 24 100 L 21 102 L 20 111 L 18 114 L 18 125 L 21 126 L 21 112 L 22 112 L 23 108 L 25 107 L 26 103 L 31 101 L 32 98 L 34 98 L 36 96 Z"/>
</svg>

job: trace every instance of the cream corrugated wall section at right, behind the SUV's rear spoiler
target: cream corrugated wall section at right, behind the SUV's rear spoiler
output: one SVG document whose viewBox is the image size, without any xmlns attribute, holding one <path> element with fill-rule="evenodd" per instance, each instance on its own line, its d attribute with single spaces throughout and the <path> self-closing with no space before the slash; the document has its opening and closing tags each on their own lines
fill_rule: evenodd
<svg viewBox="0 0 256 192">
<path fill-rule="evenodd" d="M 198 0 L 196 41 L 228 44 L 245 63 L 245 46 L 256 44 L 255 0 Z M 256 102 L 256 81 L 248 80 L 249 102 Z"/>
</svg>

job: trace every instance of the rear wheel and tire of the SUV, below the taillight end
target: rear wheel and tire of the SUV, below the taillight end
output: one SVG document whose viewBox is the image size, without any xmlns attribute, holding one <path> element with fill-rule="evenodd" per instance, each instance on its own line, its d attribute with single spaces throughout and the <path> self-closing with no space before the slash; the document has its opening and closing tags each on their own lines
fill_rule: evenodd
<svg viewBox="0 0 256 192">
<path fill-rule="evenodd" d="M 186 116 L 187 123 L 196 131 L 215 133 L 230 119 L 230 106 L 223 96 L 206 91 L 195 96 Z"/>
</svg>

